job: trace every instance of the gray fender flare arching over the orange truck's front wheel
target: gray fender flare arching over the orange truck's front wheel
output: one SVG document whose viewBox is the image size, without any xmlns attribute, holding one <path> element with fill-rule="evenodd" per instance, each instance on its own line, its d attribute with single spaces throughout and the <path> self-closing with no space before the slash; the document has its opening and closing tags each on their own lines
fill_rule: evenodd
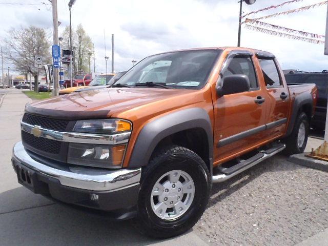
<svg viewBox="0 0 328 246">
<path fill-rule="evenodd" d="M 151 154 L 160 140 L 174 133 L 192 128 L 201 128 L 207 134 L 209 158 L 212 172 L 213 165 L 213 133 L 208 113 L 202 108 L 180 110 L 159 117 L 142 128 L 135 142 L 129 168 L 146 166 Z"/>
</svg>

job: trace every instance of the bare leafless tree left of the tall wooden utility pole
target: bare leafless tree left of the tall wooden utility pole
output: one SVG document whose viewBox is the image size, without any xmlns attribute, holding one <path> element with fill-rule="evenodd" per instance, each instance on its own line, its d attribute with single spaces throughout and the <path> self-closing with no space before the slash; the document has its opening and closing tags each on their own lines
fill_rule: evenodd
<svg viewBox="0 0 328 246">
<path fill-rule="evenodd" d="M 45 29 L 35 26 L 12 28 L 4 38 L 4 43 L 7 59 L 18 71 L 32 74 L 34 90 L 37 91 L 39 71 L 34 68 L 34 56 L 43 56 L 43 63 L 50 63 L 50 42 Z"/>
</svg>

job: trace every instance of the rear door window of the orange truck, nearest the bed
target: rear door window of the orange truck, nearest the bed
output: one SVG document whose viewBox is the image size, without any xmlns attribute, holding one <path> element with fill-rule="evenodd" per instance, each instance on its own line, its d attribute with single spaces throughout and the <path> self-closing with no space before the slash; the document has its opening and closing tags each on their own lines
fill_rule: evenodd
<svg viewBox="0 0 328 246">
<path fill-rule="evenodd" d="M 265 85 L 267 87 L 281 86 L 282 82 L 280 81 L 275 61 L 273 59 L 259 59 L 259 62 L 264 76 Z"/>
</svg>

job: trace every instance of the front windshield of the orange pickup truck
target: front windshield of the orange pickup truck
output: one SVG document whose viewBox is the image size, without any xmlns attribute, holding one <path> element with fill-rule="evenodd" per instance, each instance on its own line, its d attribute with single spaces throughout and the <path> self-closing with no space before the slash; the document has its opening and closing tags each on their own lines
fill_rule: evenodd
<svg viewBox="0 0 328 246">
<path fill-rule="evenodd" d="M 118 83 L 135 86 L 153 82 L 176 89 L 200 89 L 220 53 L 221 50 L 192 50 L 149 56 L 131 68 Z"/>
</svg>

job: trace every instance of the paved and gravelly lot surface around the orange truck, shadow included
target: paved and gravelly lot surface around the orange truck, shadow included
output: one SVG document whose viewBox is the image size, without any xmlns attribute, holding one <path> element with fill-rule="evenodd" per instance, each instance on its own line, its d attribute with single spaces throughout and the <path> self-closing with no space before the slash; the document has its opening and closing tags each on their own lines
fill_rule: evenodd
<svg viewBox="0 0 328 246">
<path fill-rule="evenodd" d="M 18 90 L 0 90 L 1 245 L 295 245 L 328 228 L 328 173 L 283 155 L 214 185 L 193 230 L 170 240 L 141 236 L 129 220 L 54 203 L 20 186 L 10 163 L 30 101 Z M 310 138 L 306 150 L 321 142 Z"/>
</svg>

